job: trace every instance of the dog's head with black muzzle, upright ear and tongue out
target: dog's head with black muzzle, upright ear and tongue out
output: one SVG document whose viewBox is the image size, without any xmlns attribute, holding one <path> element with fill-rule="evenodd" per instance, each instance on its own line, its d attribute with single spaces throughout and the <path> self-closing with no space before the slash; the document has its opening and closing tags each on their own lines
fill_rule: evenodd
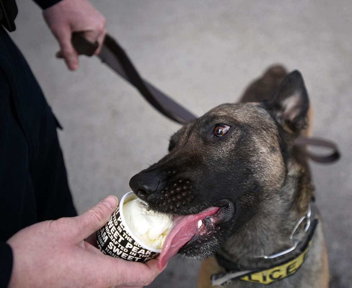
<svg viewBox="0 0 352 288">
<path fill-rule="evenodd" d="M 303 79 L 294 71 L 272 100 L 222 104 L 185 124 L 171 137 L 169 153 L 131 178 L 151 209 L 179 216 L 164 244 L 165 261 L 176 252 L 210 256 L 255 215 L 268 191 L 280 190 L 307 110 Z"/>
</svg>

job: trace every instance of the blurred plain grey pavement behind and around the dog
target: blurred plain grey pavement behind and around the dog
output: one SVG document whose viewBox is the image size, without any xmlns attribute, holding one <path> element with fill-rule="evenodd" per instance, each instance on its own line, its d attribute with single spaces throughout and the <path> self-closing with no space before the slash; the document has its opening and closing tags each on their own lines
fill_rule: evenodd
<svg viewBox="0 0 352 288">
<path fill-rule="evenodd" d="M 55 59 L 56 40 L 31 1 L 18 0 L 11 34 L 64 130 L 59 137 L 79 213 L 167 152 L 180 125 L 157 113 L 98 58 L 75 72 Z M 352 2 L 350 0 L 92 1 L 140 73 L 201 116 L 233 102 L 269 65 L 302 72 L 314 136 L 338 143 L 335 164 L 312 163 L 331 287 L 351 287 Z M 194 287 L 198 263 L 173 259 L 150 287 Z"/>
</svg>

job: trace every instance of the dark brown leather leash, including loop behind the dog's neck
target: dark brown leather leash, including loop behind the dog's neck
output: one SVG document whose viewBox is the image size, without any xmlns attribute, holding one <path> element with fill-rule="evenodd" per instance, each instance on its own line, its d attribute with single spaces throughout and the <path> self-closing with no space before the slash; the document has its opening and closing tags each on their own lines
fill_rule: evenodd
<svg viewBox="0 0 352 288">
<path fill-rule="evenodd" d="M 91 43 L 88 41 L 81 32 L 73 33 L 71 41 L 78 52 L 87 56 L 92 56 L 99 46 L 97 42 Z M 117 41 L 108 34 L 105 36 L 98 57 L 100 57 L 102 62 L 108 64 L 121 77 L 134 85 L 139 90 L 140 94 L 142 94 L 145 99 L 153 105 L 153 107 L 166 117 L 181 124 L 186 124 L 197 118 L 155 86 L 145 81 L 133 66 L 124 49 L 122 49 Z M 340 158 L 340 152 L 337 145 L 327 140 L 298 137 L 295 140 L 295 146 L 298 147 L 303 154 L 317 162 L 334 162 Z M 327 155 L 318 155 L 310 152 L 307 149 L 307 146 L 327 147 L 332 149 L 332 152 Z"/>
</svg>

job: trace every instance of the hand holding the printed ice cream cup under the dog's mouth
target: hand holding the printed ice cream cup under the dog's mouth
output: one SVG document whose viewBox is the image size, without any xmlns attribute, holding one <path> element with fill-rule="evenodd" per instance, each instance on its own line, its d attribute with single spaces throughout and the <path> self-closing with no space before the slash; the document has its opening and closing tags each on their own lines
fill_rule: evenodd
<svg viewBox="0 0 352 288">
<path fill-rule="evenodd" d="M 80 216 L 40 222 L 12 236 L 8 288 L 149 285 L 161 272 L 157 260 L 143 264 L 114 258 L 83 240 L 104 226 L 117 206 L 117 198 L 109 196 Z"/>
</svg>

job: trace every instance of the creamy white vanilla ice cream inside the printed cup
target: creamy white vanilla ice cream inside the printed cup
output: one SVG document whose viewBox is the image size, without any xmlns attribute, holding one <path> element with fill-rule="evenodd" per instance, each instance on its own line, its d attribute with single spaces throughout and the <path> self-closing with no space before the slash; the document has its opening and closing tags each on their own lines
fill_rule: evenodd
<svg viewBox="0 0 352 288">
<path fill-rule="evenodd" d="M 146 245 L 162 249 L 166 234 L 172 223 L 172 216 L 155 212 L 139 199 L 125 202 L 122 206 L 128 228 Z"/>
</svg>

